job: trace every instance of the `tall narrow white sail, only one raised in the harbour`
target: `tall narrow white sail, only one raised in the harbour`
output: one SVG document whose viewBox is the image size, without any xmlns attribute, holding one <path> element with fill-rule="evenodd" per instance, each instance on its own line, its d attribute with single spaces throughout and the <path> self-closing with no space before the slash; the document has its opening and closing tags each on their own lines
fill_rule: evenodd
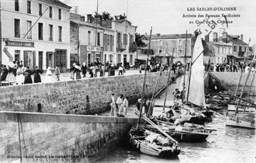
<svg viewBox="0 0 256 163">
<path fill-rule="evenodd" d="M 197 106 L 205 107 L 205 88 L 203 66 L 203 44 L 201 35 L 196 38 L 191 66 L 191 78 L 189 85 L 189 102 Z"/>
</svg>

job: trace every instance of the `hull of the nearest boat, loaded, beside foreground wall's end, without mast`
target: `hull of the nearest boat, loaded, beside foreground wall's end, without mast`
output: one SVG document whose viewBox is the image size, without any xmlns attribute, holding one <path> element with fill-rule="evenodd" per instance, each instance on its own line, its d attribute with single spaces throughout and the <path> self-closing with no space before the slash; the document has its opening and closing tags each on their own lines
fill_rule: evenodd
<svg viewBox="0 0 256 163">
<path fill-rule="evenodd" d="M 130 143 L 141 153 L 164 158 L 177 157 L 180 154 L 177 144 L 159 133 L 148 131 L 142 126 L 133 126 L 129 133 Z"/>
</svg>

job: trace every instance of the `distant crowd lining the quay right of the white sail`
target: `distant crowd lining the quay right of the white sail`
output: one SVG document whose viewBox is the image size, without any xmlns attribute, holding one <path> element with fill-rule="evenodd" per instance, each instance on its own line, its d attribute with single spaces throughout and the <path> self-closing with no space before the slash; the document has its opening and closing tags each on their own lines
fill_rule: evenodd
<svg viewBox="0 0 256 163">
<path fill-rule="evenodd" d="M 243 62 L 237 62 L 237 63 L 219 63 L 214 66 L 214 64 L 204 64 L 205 70 L 210 71 L 210 72 L 243 72 L 243 73 L 248 73 L 250 70 L 250 64 L 244 64 Z M 256 70 L 255 64 L 252 67 L 252 71 Z"/>
</svg>

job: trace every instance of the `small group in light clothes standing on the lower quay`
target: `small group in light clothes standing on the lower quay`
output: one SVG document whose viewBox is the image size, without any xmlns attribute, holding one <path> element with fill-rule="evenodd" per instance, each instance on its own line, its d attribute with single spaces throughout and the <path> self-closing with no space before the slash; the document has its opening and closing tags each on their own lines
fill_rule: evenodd
<svg viewBox="0 0 256 163">
<path fill-rule="evenodd" d="M 119 95 L 117 101 L 115 100 L 114 93 L 111 95 L 111 111 L 110 116 L 127 117 L 128 97 Z"/>
</svg>

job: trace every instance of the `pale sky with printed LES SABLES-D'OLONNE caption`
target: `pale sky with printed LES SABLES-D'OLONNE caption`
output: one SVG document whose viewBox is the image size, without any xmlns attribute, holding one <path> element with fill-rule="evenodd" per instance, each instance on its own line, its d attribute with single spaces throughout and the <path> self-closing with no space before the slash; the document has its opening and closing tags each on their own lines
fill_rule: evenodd
<svg viewBox="0 0 256 163">
<path fill-rule="evenodd" d="M 96 12 L 97 0 L 60 1 L 71 7 L 79 6 L 78 13 L 80 15 L 86 16 Z M 194 11 L 191 11 L 193 8 Z M 202 11 L 203 8 L 208 8 L 210 11 Z M 233 10 L 227 11 L 227 8 Z M 112 16 L 126 13 L 128 20 L 137 26 L 137 32 L 140 34 L 145 32 L 149 34 L 151 26 L 153 34 L 160 33 L 161 35 L 185 33 L 186 30 L 188 33 L 193 33 L 200 28 L 204 35 L 212 31 L 211 40 L 213 32 L 219 32 L 219 36 L 221 36 L 225 30 L 228 35 L 243 34 L 246 43 L 251 38 L 250 46 L 256 44 L 255 8 L 255 0 L 99 0 L 99 13 L 105 11 Z M 198 17 L 198 14 L 204 17 Z M 232 21 L 232 23 L 228 23 L 228 27 L 226 23 L 217 23 L 216 26 L 208 23 L 197 24 L 196 22 L 205 19 L 205 14 L 220 16 L 234 14 L 240 15 L 240 17 L 227 17 L 228 21 Z M 196 18 L 182 17 L 183 15 L 196 15 Z M 225 20 L 224 17 L 210 18 L 209 20 L 217 22 L 218 19 L 219 21 Z M 189 21 L 194 21 L 194 23 L 189 23 Z M 210 26 L 214 29 L 212 30 Z"/>
</svg>

